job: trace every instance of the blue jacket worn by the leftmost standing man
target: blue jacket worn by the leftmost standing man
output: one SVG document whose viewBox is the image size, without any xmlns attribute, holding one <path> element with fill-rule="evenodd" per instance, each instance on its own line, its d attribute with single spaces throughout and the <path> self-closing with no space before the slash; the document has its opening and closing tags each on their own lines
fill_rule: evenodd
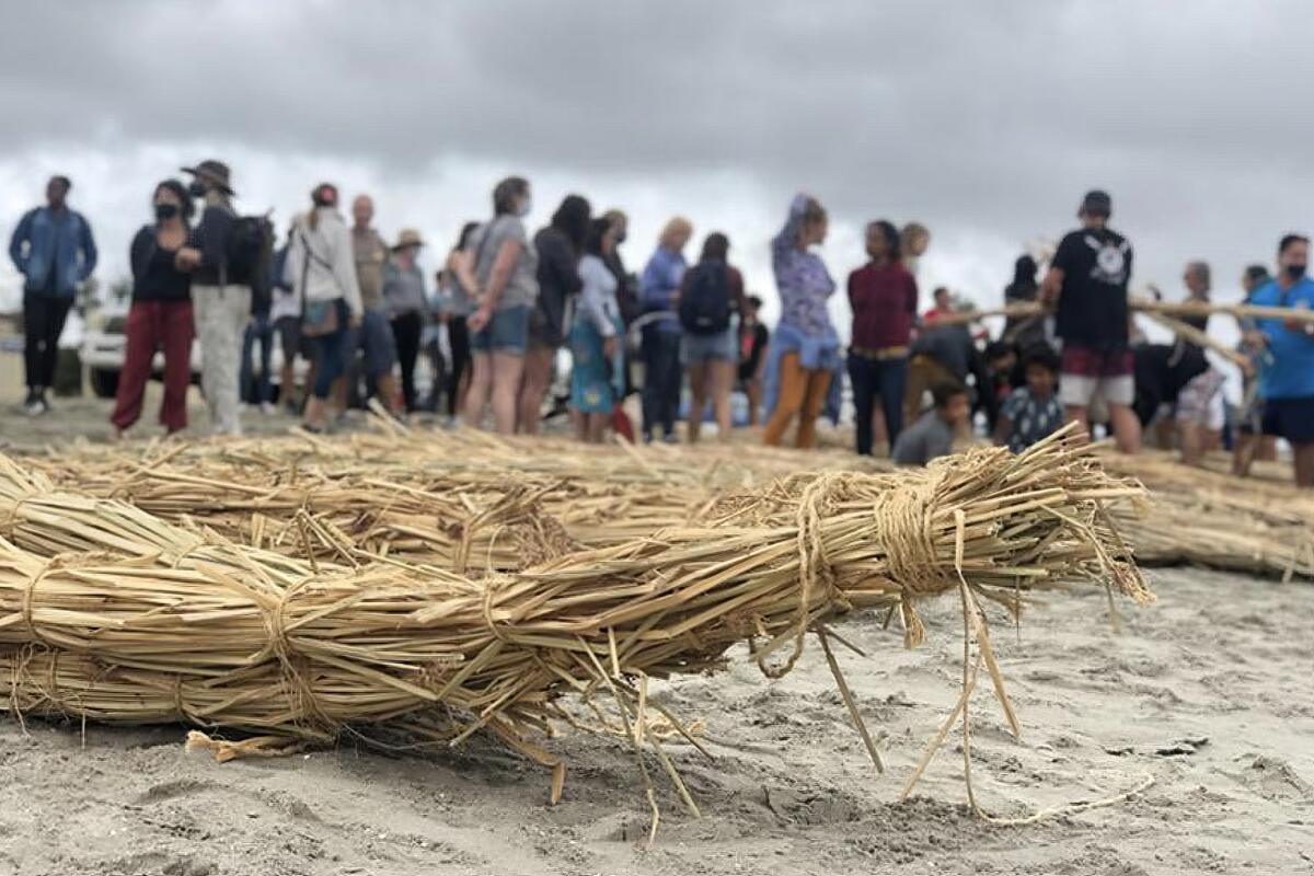
<svg viewBox="0 0 1314 876">
<path fill-rule="evenodd" d="M 26 278 L 24 292 L 72 298 L 74 286 L 96 269 L 96 242 L 80 213 L 39 206 L 18 221 L 9 257 Z"/>
</svg>

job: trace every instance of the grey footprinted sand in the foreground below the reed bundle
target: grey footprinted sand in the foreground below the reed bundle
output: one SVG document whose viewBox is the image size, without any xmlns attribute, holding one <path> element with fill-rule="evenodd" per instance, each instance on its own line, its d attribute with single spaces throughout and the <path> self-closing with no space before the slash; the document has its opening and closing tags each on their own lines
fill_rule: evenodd
<svg viewBox="0 0 1314 876">
<path fill-rule="evenodd" d="M 0 720 L 0 873 L 1301 873 L 1314 872 L 1314 587 L 1192 570 L 1114 632 L 1104 595 L 1051 595 L 996 645 L 1024 722 L 1012 741 L 982 690 L 980 802 L 1016 816 L 1137 785 L 1110 808 L 997 827 L 963 806 L 954 739 L 917 799 L 901 781 L 951 707 L 953 600 L 907 651 L 871 616 L 840 653 L 890 771 L 874 776 L 820 651 L 769 683 L 738 662 L 661 684 L 702 717 L 715 762 L 674 749 L 704 809 L 661 785 L 657 844 L 628 749 L 574 733 L 565 797 L 495 745 L 439 756 L 334 751 L 215 764 L 183 729 Z M 742 658 L 742 653 L 736 654 Z"/>
</svg>

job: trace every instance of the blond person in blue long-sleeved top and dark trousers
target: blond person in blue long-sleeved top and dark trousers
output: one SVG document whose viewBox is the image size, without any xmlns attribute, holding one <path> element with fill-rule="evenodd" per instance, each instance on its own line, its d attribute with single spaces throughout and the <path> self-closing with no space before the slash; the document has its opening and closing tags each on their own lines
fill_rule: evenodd
<svg viewBox="0 0 1314 876">
<path fill-rule="evenodd" d="M 639 280 L 643 306 L 644 359 L 644 443 L 653 440 L 661 427 L 662 440 L 675 441 L 675 411 L 679 407 L 679 319 L 675 318 L 675 293 L 685 278 L 685 246 L 694 235 L 694 226 L 683 217 L 666 222 L 657 238 L 644 273 Z"/>
</svg>

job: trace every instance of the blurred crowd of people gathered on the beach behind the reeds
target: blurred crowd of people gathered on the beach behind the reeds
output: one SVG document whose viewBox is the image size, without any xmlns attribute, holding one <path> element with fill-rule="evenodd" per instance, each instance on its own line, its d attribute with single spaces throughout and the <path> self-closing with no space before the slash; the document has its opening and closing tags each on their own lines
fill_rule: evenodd
<svg viewBox="0 0 1314 876">
<path fill-rule="evenodd" d="M 869 223 L 869 260 L 845 285 L 853 315 L 845 347 L 830 318 L 837 284 L 819 252 L 828 214 L 807 194 L 791 201 L 770 243 L 781 315 L 769 331 L 762 299 L 732 264 L 729 238 L 707 234 L 690 260 L 694 226 L 685 217 L 665 223 L 643 269 L 631 273 L 619 251 L 628 230 L 623 211 L 595 213 L 570 194 L 531 236 L 530 181 L 507 177 L 493 190 L 491 214 L 461 229 L 431 286 L 418 267 L 426 242 L 414 230 L 384 240 L 365 194 L 351 202 L 348 225 L 338 188 L 317 185 L 286 238 L 275 242 L 265 218 L 234 209 L 226 164 L 183 171 L 187 185 L 168 179 L 155 186 L 154 221 L 129 248 L 133 294 L 110 416 L 116 433 L 139 419 L 156 353 L 164 360 L 160 423 L 170 432 L 187 427 L 193 338 L 217 433 L 240 432 L 243 402 L 268 411 L 276 399 L 306 429 L 331 429 L 363 393 L 396 416 L 443 402 L 453 422 L 532 435 L 556 412 L 548 395 L 566 348 L 566 407 L 590 443 L 608 431 L 677 441 L 679 419 L 696 443 L 708 414 L 717 437 L 728 439 L 738 389 L 748 423 L 765 418 L 765 444 L 782 444 L 792 431 L 792 443 L 809 448 L 819 418 L 838 422 L 848 376 L 855 450 L 886 447 L 899 464 L 949 453 L 978 418 L 986 435 L 1013 450 L 1077 422 L 1106 428 L 1126 453 L 1148 429 L 1187 462 L 1227 444 L 1239 474 L 1271 458 L 1273 439 L 1282 437 L 1297 482 L 1314 486 L 1314 322 L 1279 314 L 1244 323 L 1244 402 L 1229 416 L 1223 374 L 1201 343 L 1208 315 L 1184 318 L 1189 331 L 1171 343 L 1150 343 L 1138 331 L 1127 294 L 1133 248 L 1109 227 L 1105 192 L 1085 196 L 1080 227 L 1063 236 L 1043 276 L 1030 255 L 1017 259 L 1005 302 L 1041 307 L 1009 318 L 995 339 L 974 328 L 947 289 L 936 289 L 933 306 L 920 310 L 918 259 L 930 242 L 924 226 Z M 50 410 L 57 341 L 74 290 L 97 260 L 91 225 L 67 204 L 70 188 L 53 177 L 46 205 L 22 217 L 9 248 L 25 278 L 24 410 L 34 416 Z M 1284 236 L 1276 274 L 1247 269 L 1246 301 L 1314 307 L 1307 251 L 1305 236 Z M 1183 282 L 1188 301 L 1210 301 L 1206 263 L 1189 263 Z M 417 365 L 426 352 L 434 380 L 422 398 Z M 632 393 L 641 398 L 637 431 L 623 407 Z"/>
</svg>

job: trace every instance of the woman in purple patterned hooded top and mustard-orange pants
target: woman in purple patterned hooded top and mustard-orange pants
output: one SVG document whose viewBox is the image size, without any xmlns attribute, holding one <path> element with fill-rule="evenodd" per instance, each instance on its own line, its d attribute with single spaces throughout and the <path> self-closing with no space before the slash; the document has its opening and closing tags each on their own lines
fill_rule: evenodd
<svg viewBox="0 0 1314 876">
<path fill-rule="evenodd" d="M 840 338 L 830 324 L 827 301 L 834 294 L 834 280 L 821 256 L 812 251 L 825 240 L 825 208 L 809 194 L 796 194 L 790 202 L 784 226 L 771 240 L 771 271 L 781 294 L 781 322 L 771 336 L 774 395 L 762 441 L 779 445 L 784 429 L 799 420 L 795 444 L 816 444 L 816 419 L 825 405 L 830 377 L 840 365 Z M 773 383 L 769 364 L 767 383 Z"/>
</svg>

